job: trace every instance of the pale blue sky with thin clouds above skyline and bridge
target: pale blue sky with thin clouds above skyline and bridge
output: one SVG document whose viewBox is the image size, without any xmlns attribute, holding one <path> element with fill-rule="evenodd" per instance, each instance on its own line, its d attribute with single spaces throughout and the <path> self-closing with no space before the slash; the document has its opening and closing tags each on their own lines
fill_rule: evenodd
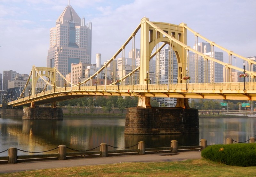
<svg viewBox="0 0 256 177">
<path fill-rule="evenodd" d="M 84 16 L 86 23 L 92 22 L 92 63 L 96 63 L 96 53 L 101 53 L 102 63 L 111 59 L 143 17 L 176 25 L 186 23 L 230 51 L 244 57 L 256 56 L 255 0 L 70 0 L 69 3 L 80 18 Z M 14 70 L 29 74 L 33 65 L 46 67 L 50 28 L 56 26 L 67 5 L 68 0 L 0 0 L 0 73 Z M 188 36 L 191 37 L 188 45 L 193 46 L 195 37 Z M 228 62 L 227 58 L 224 62 Z"/>
</svg>

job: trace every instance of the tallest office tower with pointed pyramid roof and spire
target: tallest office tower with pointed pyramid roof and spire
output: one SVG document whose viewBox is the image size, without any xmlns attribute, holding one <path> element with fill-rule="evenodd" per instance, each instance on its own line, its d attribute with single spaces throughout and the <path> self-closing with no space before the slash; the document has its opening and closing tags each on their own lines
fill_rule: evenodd
<svg viewBox="0 0 256 177">
<path fill-rule="evenodd" d="M 68 4 L 50 29 L 47 67 L 56 67 L 65 76 L 71 63 L 79 62 L 92 62 L 92 22 L 85 24 Z"/>
</svg>

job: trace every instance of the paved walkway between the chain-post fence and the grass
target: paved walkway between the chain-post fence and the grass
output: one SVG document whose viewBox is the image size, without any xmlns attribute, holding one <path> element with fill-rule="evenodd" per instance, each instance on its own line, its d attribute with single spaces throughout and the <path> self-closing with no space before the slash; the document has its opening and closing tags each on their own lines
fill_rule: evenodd
<svg viewBox="0 0 256 177">
<path fill-rule="evenodd" d="M 72 166 L 89 166 L 115 164 L 122 162 L 170 162 L 186 159 L 200 159 L 200 151 L 178 152 L 178 153 L 158 153 L 145 155 L 123 155 L 113 157 L 95 157 L 84 159 L 68 160 L 48 160 L 21 162 L 16 164 L 0 164 L 0 173 L 21 172 L 27 170 L 39 170 L 47 168 L 63 168 Z"/>
</svg>

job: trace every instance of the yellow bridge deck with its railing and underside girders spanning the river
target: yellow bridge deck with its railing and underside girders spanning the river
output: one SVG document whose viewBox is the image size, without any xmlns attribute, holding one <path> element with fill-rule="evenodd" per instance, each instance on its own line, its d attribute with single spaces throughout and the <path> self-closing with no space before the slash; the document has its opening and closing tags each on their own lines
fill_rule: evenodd
<svg viewBox="0 0 256 177">
<path fill-rule="evenodd" d="M 29 106 L 58 102 L 84 96 L 148 96 L 176 98 L 204 98 L 230 100 L 256 100 L 256 82 L 148 84 L 147 85 L 98 85 L 55 88 L 12 102 L 10 106 Z"/>
</svg>

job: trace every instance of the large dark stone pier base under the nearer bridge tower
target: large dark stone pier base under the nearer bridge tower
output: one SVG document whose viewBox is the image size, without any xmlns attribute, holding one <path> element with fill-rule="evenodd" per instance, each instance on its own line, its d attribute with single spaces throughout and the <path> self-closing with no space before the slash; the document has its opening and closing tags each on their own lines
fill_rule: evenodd
<svg viewBox="0 0 256 177">
<path fill-rule="evenodd" d="M 199 133 L 198 110 L 178 107 L 127 108 L 124 133 Z"/>
</svg>

